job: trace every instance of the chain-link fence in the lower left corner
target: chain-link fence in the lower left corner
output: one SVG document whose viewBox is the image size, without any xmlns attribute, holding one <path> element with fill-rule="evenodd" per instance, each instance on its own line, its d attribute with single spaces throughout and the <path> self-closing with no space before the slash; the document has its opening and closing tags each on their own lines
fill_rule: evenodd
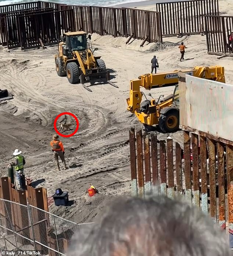
<svg viewBox="0 0 233 256">
<path fill-rule="evenodd" d="M 66 256 L 69 241 L 77 229 L 93 223 L 77 224 L 47 211 L 0 199 L 0 248 L 40 250 L 42 255 Z"/>
</svg>

